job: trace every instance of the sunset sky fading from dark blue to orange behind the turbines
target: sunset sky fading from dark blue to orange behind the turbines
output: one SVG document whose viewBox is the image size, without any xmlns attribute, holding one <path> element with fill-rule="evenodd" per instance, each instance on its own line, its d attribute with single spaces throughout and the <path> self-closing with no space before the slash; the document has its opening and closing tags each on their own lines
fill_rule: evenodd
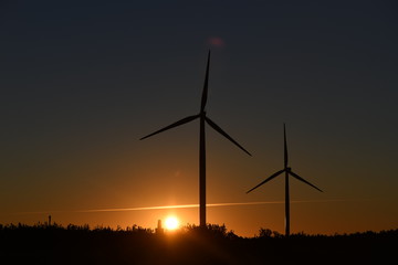
<svg viewBox="0 0 398 265">
<path fill-rule="evenodd" d="M 273 2 L 273 3 L 272 3 Z M 208 222 L 239 235 L 398 224 L 395 1 L 1 1 L 0 223 L 199 223 L 197 114 L 208 49 Z M 281 203 L 282 202 L 282 203 Z"/>
</svg>

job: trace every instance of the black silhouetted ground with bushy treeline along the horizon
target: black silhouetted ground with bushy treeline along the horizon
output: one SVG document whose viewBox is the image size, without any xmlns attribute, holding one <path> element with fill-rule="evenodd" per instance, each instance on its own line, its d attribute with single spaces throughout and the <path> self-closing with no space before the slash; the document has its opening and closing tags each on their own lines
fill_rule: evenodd
<svg viewBox="0 0 398 265">
<path fill-rule="evenodd" d="M 398 264 L 398 230 L 243 239 L 224 226 L 150 230 L 0 225 L 0 264 Z"/>
</svg>

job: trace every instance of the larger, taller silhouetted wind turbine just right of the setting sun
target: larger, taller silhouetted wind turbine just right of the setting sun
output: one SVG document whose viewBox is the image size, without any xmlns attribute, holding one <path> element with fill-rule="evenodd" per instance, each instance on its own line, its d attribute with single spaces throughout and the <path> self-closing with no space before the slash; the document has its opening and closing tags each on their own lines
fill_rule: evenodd
<svg viewBox="0 0 398 265">
<path fill-rule="evenodd" d="M 222 136 L 224 136 L 227 139 L 232 141 L 235 146 L 238 146 L 240 149 L 242 149 L 244 152 L 247 152 L 249 156 L 251 156 L 250 152 L 248 152 L 241 145 L 239 145 L 235 140 L 233 140 L 226 131 L 223 131 L 214 121 L 212 121 L 209 117 L 206 116 L 206 103 L 208 97 L 208 83 L 209 83 L 209 65 L 210 65 L 210 51 L 208 53 L 208 61 L 207 61 L 207 67 L 206 67 L 206 76 L 205 76 L 205 85 L 203 85 L 203 92 L 201 96 L 201 104 L 200 104 L 200 112 L 197 115 L 188 116 L 184 119 L 180 119 L 169 126 L 166 126 L 163 129 L 159 129 L 150 135 L 147 135 L 140 140 L 148 138 L 150 136 L 157 135 L 159 132 L 163 132 L 165 130 L 175 128 L 177 126 L 187 124 L 189 121 L 192 121 L 197 118 L 199 118 L 200 121 L 200 139 L 199 139 L 199 219 L 200 219 L 200 226 L 206 227 L 206 135 L 205 135 L 205 121 L 210 125 L 211 128 L 220 132 Z"/>
</svg>

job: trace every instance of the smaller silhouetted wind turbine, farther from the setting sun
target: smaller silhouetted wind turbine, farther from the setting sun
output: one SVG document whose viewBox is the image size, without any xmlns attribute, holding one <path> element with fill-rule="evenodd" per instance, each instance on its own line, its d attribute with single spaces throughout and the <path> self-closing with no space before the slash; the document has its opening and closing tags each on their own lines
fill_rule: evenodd
<svg viewBox="0 0 398 265">
<path fill-rule="evenodd" d="M 300 177 L 298 174 L 294 173 L 292 171 L 292 168 L 290 168 L 287 166 L 287 144 L 286 144 L 286 127 L 285 124 L 283 124 L 283 140 L 284 140 L 284 168 L 273 174 L 271 174 L 271 177 L 269 177 L 268 179 L 265 179 L 263 182 L 261 182 L 260 184 L 258 184 L 256 187 L 254 187 L 253 189 L 249 190 L 247 193 L 255 190 L 256 188 L 259 188 L 260 186 L 269 182 L 270 180 L 272 180 L 273 178 L 276 178 L 277 176 L 280 176 L 281 173 L 285 173 L 285 235 L 289 236 L 290 235 L 290 199 L 289 199 L 289 176 L 292 176 L 294 178 L 296 178 L 300 181 L 303 181 L 304 183 L 315 188 L 316 190 L 323 192 L 321 189 L 318 189 L 317 187 L 315 187 L 314 184 L 310 183 L 308 181 L 304 180 L 302 177 Z"/>
</svg>

